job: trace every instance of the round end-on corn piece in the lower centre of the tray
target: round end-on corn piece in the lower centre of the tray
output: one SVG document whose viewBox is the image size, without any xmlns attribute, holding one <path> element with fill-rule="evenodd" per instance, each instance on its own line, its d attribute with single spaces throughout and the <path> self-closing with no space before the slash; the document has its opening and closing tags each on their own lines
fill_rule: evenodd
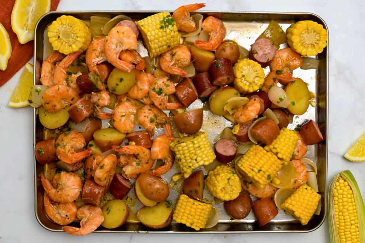
<svg viewBox="0 0 365 243">
<path fill-rule="evenodd" d="M 241 192 L 241 181 L 228 165 L 220 165 L 210 171 L 205 183 L 213 196 L 224 201 L 235 199 Z"/>
</svg>

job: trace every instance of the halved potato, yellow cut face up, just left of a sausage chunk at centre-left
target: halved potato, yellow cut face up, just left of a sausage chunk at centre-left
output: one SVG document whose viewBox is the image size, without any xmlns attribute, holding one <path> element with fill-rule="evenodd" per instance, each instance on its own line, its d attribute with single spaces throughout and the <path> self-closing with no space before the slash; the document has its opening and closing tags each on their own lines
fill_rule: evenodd
<svg viewBox="0 0 365 243">
<path fill-rule="evenodd" d="M 120 145 L 126 138 L 126 134 L 114 128 L 104 128 L 96 130 L 93 137 L 96 145 L 104 152 L 111 149 L 112 145 Z"/>
</svg>

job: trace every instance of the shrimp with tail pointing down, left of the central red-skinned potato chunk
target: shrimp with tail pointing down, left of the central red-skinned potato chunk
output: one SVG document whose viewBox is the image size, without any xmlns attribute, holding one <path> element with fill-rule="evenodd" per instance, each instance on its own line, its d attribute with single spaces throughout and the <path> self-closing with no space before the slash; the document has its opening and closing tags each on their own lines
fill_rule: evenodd
<svg viewBox="0 0 365 243">
<path fill-rule="evenodd" d="M 138 123 L 143 126 L 144 129 L 147 130 L 151 134 L 154 135 L 154 128 L 156 124 L 162 124 L 164 127 L 165 133 L 168 138 L 172 139 L 172 128 L 171 124 L 168 121 L 167 115 L 164 111 L 158 109 L 154 105 L 145 105 L 142 109 L 138 110 L 137 113 Z"/>
</svg>

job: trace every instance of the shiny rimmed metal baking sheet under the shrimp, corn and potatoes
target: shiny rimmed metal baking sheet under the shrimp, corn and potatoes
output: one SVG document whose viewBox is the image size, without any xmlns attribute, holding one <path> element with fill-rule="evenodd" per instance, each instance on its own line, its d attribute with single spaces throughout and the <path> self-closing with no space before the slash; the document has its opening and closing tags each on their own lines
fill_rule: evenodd
<svg viewBox="0 0 365 243">
<path fill-rule="evenodd" d="M 36 62 L 39 61 L 42 63 L 44 57 L 46 57 L 49 53 L 46 53 L 46 50 L 49 50 L 48 40 L 45 39 L 47 26 L 55 20 L 57 17 L 61 15 L 73 15 L 79 19 L 89 19 L 92 15 L 99 16 L 116 16 L 119 14 L 126 14 L 130 16 L 134 20 L 139 20 L 154 13 L 161 11 L 90 11 L 90 12 L 72 12 L 72 11 L 57 11 L 57 12 L 49 12 L 41 17 L 38 21 L 37 26 L 35 28 L 35 40 L 34 40 L 34 66 L 39 68 L 36 65 Z M 173 12 L 173 11 L 170 11 Z M 199 13 L 207 16 L 212 15 L 221 19 L 226 27 L 226 40 L 234 40 L 241 46 L 250 49 L 250 45 L 254 42 L 254 40 L 265 30 L 268 26 L 270 20 L 276 20 L 283 30 L 286 30 L 292 23 L 299 20 L 313 20 L 324 26 L 328 31 L 327 25 L 323 19 L 313 13 L 284 13 L 284 12 L 201 12 Z M 285 47 L 286 44 L 281 46 L 280 48 Z M 143 52 L 143 50 L 139 50 Z M 143 54 L 142 54 L 143 55 Z M 326 217 L 327 212 L 327 203 L 326 203 L 326 195 L 327 195 L 327 134 L 328 134 L 328 46 L 324 49 L 324 51 L 316 56 L 319 59 L 319 69 L 311 69 L 311 70 L 301 70 L 300 68 L 294 70 L 293 76 L 300 77 L 305 82 L 309 83 L 309 90 L 313 91 L 316 94 L 316 107 L 309 107 L 308 111 L 300 116 L 295 115 L 293 118 L 293 123 L 289 124 L 288 128 L 295 128 L 297 124 L 303 124 L 308 119 L 313 119 L 319 125 L 320 130 L 324 136 L 324 141 L 320 142 L 318 145 L 308 146 L 308 152 L 306 157 L 311 158 L 316 162 L 318 167 L 318 187 L 319 193 L 321 194 L 321 203 L 322 209 L 320 215 L 315 215 L 312 220 L 306 225 L 302 226 L 297 220 L 294 220 L 291 216 L 285 215 L 285 213 L 281 210 L 278 215 L 273 219 L 270 223 L 266 224 L 263 227 L 259 227 L 255 222 L 255 217 L 253 212 L 242 220 L 231 220 L 230 217 L 226 214 L 223 209 L 223 203 L 218 205 L 214 205 L 215 208 L 220 212 L 219 223 L 209 229 L 201 229 L 200 231 L 195 231 L 192 228 L 185 226 L 184 224 L 172 223 L 170 226 L 162 229 L 151 229 L 143 226 L 139 222 L 135 223 L 126 223 L 123 226 L 108 230 L 103 227 L 99 227 L 95 232 L 119 232 L 119 233 L 262 233 L 262 232 L 311 232 L 316 230 L 323 222 Z M 265 74 L 269 72 L 269 68 L 264 68 Z M 34 84 L 35 84 L 35 74 L 34 72 Z M 202 103 L 197 100 L 194 102 L 192 107 L 200 107 Z M 192 108 L 189 107 L 189 108 Z M 216 122 L 220 123 L 221 126 L 229 125 L 229 123 L 224 118 L 214 118 L 209 117 L 211 114 L 204 113 L 204 124 L 203 130 L 209 133 L 209 138 L 211 142 L 214 142 L 217 134 L 214 134 L 210 129 L 214 128 L 212 125 L 212 119 L 216 119 Z M 42 125 L 39 122 L 38 116 L 36 114 L 36 109 L 34 109 L 33 115 L 33 123 L 34 123 L 34 145 L 38 140 L 41 140 L 42 137 Z M 215 125 L 216 126 L 216 125 Z M 138 129 L 138 128 L 137 128 Z M 214 130 L 214 129 L 213 129 Z M 158 131 L 157 131 L 158 133 Z M 203 170 L 205 170 L 203 168 Z M 176 172 L 176 165 L 171 170 L 171 172 L 166 173 L 162 177 L 165 180 L 169 181 L 171 176 Z M 206 172 L 206 170 L 205 170 Z M 61 232 L 62 226 L 53 223 L 47 216 L 43 209 L 43 198 L 42 198 L 42 185 L 39 180 L 39 174 L 43 173 L 43 165 L 39 164 L 35 160 L 34 156 L 34 195 L 35 195 L 35 217 L 39 224 L 42 227 L 49 231 Z M 206 195 L 206 188 L 204 191 L 204 195 Z M 134 190 L 131 189 L 129 195 L 134 196 Z M 170 189 L 169 199 L 172 200 L 173 205 L 176 203 L 178 193 L 172 189 Z M 134 196 L 135 197 L 135 196 Z M 138 201 L 138 200 L 137 200 Z M 133 211 L 138 210 L 138 208 L 142 207 L 142 204 L 137 202 L 133 203 L 133 206 L 129 205 Z M 71 225 L 79 226 L 79 223 L 72 223 Z"/>
</svg>

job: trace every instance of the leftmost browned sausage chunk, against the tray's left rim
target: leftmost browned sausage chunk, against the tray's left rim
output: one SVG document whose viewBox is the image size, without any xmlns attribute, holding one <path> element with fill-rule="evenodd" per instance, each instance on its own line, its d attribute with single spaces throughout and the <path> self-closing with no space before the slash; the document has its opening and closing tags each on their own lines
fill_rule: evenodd
<svg viewBox="0 0 365 243">
<path fill-rule="evenodd" d="M 34 150 L 35 158 L 41 164 L 58 160 L 56 150 L 54 148 L 54 138 L 37 142 Z"/>
</svg>

